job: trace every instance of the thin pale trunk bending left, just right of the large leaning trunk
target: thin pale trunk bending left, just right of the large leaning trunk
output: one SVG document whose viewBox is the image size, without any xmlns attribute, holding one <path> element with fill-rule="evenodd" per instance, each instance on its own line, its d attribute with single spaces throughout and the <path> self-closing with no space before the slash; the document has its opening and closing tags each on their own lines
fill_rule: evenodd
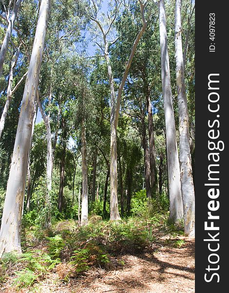
<svg viewBox="0 0 229 293">
<path fill-rule="evenodd" d="M 46 156 L 46 181 L 47 181 L 47 192 L 45 194 L 45 207 L 46 207 L 46 219 L 45 228 L 51 227 L 51 191 L 52 191 L 52 172 L 53 172 L 53 150 L 52 150 L 52 132 L 50 126 L 50 115 L 46 115 L 40 102 L 40 96 L 38 92 L 38 105 L 44 125 L 46 128 L 46 142 L 47 142 L 47 156 Z"/>
</svg>

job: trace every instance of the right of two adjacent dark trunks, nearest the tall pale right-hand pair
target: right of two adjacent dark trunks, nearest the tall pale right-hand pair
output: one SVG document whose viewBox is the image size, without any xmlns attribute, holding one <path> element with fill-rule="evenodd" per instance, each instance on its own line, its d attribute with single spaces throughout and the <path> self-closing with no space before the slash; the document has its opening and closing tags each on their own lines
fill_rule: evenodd
<svg viewBox="0 0 229 293">
<path fill-rule="evenodd" d="M 153 113 L 150 99 L 150 90 L 148 89 L 147 96 L 147 112 L 148 112 L 148 131 L 149 131 L 149 146 L 150 146 L 150 173 L 151 173 L 151 189 L 153 197 L 157 192 L 157 174 L 156 174 L 156 151 L 153 133 Z"/>
</svg>

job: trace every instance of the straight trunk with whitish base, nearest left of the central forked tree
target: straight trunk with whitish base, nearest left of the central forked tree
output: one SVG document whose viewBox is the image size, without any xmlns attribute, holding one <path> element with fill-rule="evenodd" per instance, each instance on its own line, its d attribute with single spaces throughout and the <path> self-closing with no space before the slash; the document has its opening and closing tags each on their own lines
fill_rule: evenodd
<svg viewBox="0 0 229 293">
<path fill-rule="evenodd" d="M 82 205 L 81 205 L 81 225 L 88 223 L 88 174 L 87 174 L 87 151 L 86 134 L 84 121 L 82 121 Z"/>
</svg>

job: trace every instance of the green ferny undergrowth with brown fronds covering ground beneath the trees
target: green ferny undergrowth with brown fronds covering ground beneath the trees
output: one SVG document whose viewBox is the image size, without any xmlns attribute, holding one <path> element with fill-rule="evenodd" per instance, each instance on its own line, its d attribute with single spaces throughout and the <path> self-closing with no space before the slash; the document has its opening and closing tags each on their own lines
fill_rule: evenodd
<svg viewBox="0 0 229 293">
<path fill-rule="evenodd" d="M 167 214 L 154 214 L 151 218 L 125 218 L 121 221 L 102 221 L 93 218 L 87 226 L 61 221 L 52 230 L 36 227 L 25 230 L 27 245 L 24 253 L 4 254 L 0 259 L 0 283 L 13 279 L 16 291 L 34 288 L 48 272 L 57 272 L 60 280 L 68 282 L 91 267 L 109 270 L 111 260 L 122 267 L 119 256 L 152 251 L 159 241 L 156 229 L 162 229 L 171 237 L 180 235 L 181 225 L 170 225 Z M 69 229 L 68 229 L 69 228 Z M 172 238 L 170 238 L 172 239 Z M 183 240 L 166 240 L 166 245 L 180 248 Z M 152 251 L 153 252 L 153 251 Z"/>
</svg>

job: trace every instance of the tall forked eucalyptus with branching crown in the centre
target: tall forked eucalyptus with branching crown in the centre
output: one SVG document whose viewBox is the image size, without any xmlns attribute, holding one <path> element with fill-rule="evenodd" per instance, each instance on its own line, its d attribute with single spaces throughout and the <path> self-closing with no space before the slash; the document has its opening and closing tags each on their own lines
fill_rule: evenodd
<svg viewBox="0 0 229 293">
<path fill-rule="evenodd" d="M 98 26 L 100 30 L 101 39 L 103 40 L 103 44 L 100 45 L 100 48 L 102 49 L 104 53 L 104 58 L 107 64 L 107 71 L 108 71 L 108 78 L 109 78 L 110 92 L 111 92 L 110 218 L 111 220 L 119 220 L 120 215 L 118 211 L 118 200 L 117 200 L 117 123 L 118 123 L 118 116 L 119 116 L 119 110 L 120 110 L 120 104 L 121 104 L 122 90 L 126 83 L 126 79 L 129 73 L 129 69 L 131 67 L 131 63 L 134 58 L 137 44 L 140 41 L 147 27 L 147 21 L 145 19 L 145 7 L 147 4 L 147 0 L 145 0 L 144 2 L 139 0 L 141 18 L 142 18 L 142 27 L 140 31 L 138 32 L 136 39 L 134 40 L 129 59 L 123 71 L 123 76 L 118 88 L 116 99 L 115 99 L 115 83 L 114 83 L 114 77 L 113 77 L 113 70 L 112 70 L 112 65 L 111 65 L 110 57 L 109 57 L 109 47 L 112 44 L 114 44 L 117 41 L 117 39 L 115 39 L 114 41 L 109 41 L 108 37 L 109 37 L 109 33 L 111 32 L 112 26 L 117 18 L 122 1 L 115 0 L 114 4 L 115 4 L 114 12 L 111 15 L 108 15 L 108 23 L 109 23 L 108 28 L 106 28 L 106 25 L 103 25 L 101 23 L 98 17 L 98 11 L 101 8 L 101 2 L 99 2 L 98 5 L 96 5 L 95 1 L 93 1 L 94 14 L 90 13 L 89 11 L 87 11 L 87 14 L 89 18 L 96 23 L 96 25 Z"/>
</svg>

